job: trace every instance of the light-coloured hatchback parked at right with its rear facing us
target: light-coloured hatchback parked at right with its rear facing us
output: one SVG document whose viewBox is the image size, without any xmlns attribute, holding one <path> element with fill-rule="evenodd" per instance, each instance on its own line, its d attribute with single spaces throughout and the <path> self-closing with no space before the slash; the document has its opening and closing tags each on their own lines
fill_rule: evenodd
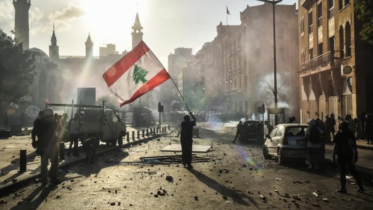
<svg viewBox="0 0 373 210">
<path fill-rule="evenodd" d="M 279 124 L 266 135 L 263 156 L 277 157 L 279 164 L 289 158 L 307 158 L 307 144 L 304 134 L 307 124 Z"/>
</svg>

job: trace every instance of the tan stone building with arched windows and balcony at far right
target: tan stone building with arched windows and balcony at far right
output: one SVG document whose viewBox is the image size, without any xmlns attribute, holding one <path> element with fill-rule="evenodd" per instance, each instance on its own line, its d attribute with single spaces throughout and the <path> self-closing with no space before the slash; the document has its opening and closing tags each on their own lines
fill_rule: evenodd
<svg viewBox="0 0 373 210">
<path fill-rule="evenodd" d="M 372 50 L 358 34 L 353 0 L 300 0 L 301 119 L 372 111 Z"/>
</svg>

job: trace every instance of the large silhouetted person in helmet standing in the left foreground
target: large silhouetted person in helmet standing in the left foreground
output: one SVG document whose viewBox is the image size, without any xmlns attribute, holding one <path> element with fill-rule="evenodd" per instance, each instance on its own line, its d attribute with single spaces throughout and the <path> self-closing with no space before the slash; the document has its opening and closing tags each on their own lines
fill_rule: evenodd
<svg viewBox="0 0 373 210">
<path fill-rule="evenodd" d="M 39 113 L 40 114 L 40 113 Z M 41 159 L 41 183 L 47 183 L 48 174 L 51 178 L 51 184 L 60 183 L 57 180 L 59 148 L 56 135 L 57 121 L 53 117 L 53 109 L 46 108 L 43 111 L 43 117 L 38 117 L 34 122 L 32 129 L 32 146 L 37 149 Z M 35 136 L 38 137 L 36 140 Z M 48 160 L 51 162 L 48 173 Z"/>
</svg>

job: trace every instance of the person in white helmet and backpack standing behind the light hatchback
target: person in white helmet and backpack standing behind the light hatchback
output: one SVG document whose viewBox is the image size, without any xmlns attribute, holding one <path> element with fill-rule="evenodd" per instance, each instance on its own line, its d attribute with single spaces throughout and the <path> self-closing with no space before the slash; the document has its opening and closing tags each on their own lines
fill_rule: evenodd
<svg viewBox="0 0 373 210">
<path fill-rule="evenodd" d="M 305 139 L 308 140 L 308 168 L 319 170 L 320 155 L 322 155 L 322 133 L 323 131 L 317 127 L 316 120 L 309 121 L 310 127 L 305 131 Z"/>
</svg>

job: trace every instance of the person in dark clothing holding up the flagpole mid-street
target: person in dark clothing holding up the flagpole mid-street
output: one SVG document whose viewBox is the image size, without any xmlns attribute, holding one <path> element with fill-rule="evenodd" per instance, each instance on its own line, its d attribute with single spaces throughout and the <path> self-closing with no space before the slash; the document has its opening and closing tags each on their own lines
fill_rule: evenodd
<svg viewBox="0 0 373 210">
<path fill-rule="evenodd" d="M 190 121 L 189 115 L 184 116 L 184 121 L 181 122 L 181 135 L 180 135 L 180 142 L 181 142 L 181 151 L 182 151 L 182 162 L 184 167 L 188 165 L 188 168 L 193 168 L 192 166 L 192 132 L 193 126 L 195 124 L 195 117 L 192 112 L 189 112 L 190 117 L 192 117 L 192 121 Z"/>
</svg>

